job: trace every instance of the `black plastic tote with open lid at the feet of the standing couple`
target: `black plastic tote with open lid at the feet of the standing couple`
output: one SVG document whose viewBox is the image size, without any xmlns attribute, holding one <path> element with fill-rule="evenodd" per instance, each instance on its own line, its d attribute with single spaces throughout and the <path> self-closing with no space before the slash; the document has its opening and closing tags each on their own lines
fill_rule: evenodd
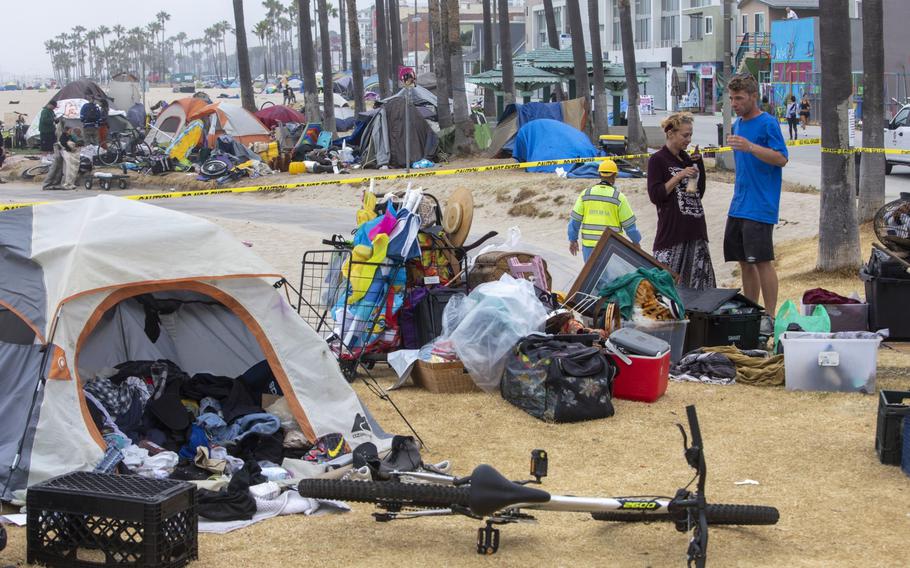
<svg viewBox="0 0 910 568">
<path fill-rule="evenodd" d="M 749 300 L 735 288 L 709 290 L 678 289 L 686 307 L 689 327 L 683 349 L 688 353 L 699 347 L 735 345 L 740 349 L 758 348 L 758 334 L 764 308 Z M 751 314 L 715 314 L 725 303 L 736 300 L 756 309 Z"/>
</svg>

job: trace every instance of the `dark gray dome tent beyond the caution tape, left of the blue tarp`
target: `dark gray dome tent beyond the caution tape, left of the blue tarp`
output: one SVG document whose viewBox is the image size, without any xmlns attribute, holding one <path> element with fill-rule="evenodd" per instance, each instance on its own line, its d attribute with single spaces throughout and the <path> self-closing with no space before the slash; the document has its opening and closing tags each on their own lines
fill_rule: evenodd
<svg viewBox="0 0 910 568">
<path fill-rule="evenodd" d="M 407 121 L 410 126 L 407 136 L 405 109 L 409 113 Z M 407 147 L 406 139 L 410 141 Z M 401 94 L 382 101 L 382 106 L 370 119 L 361 140 L 360 161 L 365 168 L 401 168 L 407 165 L 408 160 L 413 163 L 423 158 L 432 159 L 436 156 L 439 145 L 439 139 L 429 121 L 413 102 L 406 102 Z"/>
</svg>

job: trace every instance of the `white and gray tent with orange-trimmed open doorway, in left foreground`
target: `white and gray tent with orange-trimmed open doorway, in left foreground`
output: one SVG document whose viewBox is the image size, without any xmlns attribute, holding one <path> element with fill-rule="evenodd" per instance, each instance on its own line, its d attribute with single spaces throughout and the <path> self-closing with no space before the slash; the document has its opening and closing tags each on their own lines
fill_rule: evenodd
<svg viewBox="0 0 910 568">
<path fill-rule="evenodd" d="M 146 203 L 98 196 L 0 213 L 0 499 L 99 462 L 106 445 L 83 385 L 126 361 L 236 377 L 266 360 L 309 440 L 337 432 L 388 448 L 280 280 L 227 231 Z M 170 306 L 154 341 L 149 298 Z"/>
</svg>

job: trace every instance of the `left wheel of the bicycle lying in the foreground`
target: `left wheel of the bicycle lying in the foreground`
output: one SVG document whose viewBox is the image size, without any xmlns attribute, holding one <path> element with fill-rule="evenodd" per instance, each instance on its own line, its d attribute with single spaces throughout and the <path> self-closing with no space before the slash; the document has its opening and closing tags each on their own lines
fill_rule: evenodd
<svg viewBox="0 0 910 568">
<path fill-rule="evenodd" d="M 303 497 L 358 503 L 395 503 L 405 507 L 438 508 L 468 506 L 468 488 L 435 483 L 398 481 L 348 481 L 304 479 L 297 486 Z"/>
</svg>

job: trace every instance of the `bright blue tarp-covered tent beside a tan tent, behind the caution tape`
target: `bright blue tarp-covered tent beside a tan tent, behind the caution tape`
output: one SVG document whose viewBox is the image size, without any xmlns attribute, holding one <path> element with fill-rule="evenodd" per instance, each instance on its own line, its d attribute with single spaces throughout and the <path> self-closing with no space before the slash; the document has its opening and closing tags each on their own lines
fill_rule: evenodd
<svg viewBox="0 0 910 568">
<path fill-rule="evenodd" d="M 519 162 L 589 158 L 601 152 L 591 144 L 584 132 L 564 122 L 541 118 L 522 126 L 515 136 L 512 156 Z M 528 168 L 529 172 L 552 172 L 557 166 Z"/>
</svg>

